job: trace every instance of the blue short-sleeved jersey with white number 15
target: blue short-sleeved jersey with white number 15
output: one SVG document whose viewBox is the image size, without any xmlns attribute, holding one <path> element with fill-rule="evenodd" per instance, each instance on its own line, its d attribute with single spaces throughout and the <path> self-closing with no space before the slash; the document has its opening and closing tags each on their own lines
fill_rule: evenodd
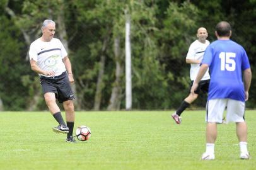
<svg viewBox="0 0 256 170">
<path fill-rule="evenodd" d="M 206 48 L 202 64 L 209 65 L 209 99 L 245 101 L 242 71 L 250 68 L 245 49 L 232 40 L 217 40 Z"/>
</svg>

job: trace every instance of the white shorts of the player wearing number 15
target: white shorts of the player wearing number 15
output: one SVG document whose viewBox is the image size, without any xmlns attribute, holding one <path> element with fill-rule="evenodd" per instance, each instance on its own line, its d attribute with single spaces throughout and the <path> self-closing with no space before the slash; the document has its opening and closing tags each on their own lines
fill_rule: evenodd
<svg viewBox="0 0 256 170">
<path fill-rule="evenodd" d="M 245 122 L 245 102 L 235 99 L 210 99 L 207 101 L 206 122 L 222 123 L 226 108 L 226 123 Z"/>
</svg>

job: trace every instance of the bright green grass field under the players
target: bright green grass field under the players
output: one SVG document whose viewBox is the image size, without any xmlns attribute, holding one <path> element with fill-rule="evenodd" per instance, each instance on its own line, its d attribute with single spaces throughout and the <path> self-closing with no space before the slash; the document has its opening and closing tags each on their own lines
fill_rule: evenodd
<svg viewBox="0 0 256 170">
<path fill-rule="evenodd" d="M 247 111 L 250 160 L 239 159 L 235 124 L 218 125 L 214 161 L 205 151 L 205 111 L 76 112 L 75 127 L 91 128 L 91 139 L 66 143 L 52 132 L 49 112 L 0 112 L 0 169 L 255 169 L 256 111 Z M 63 115 L 63 113 L 62 113 Z"/>
</svg>

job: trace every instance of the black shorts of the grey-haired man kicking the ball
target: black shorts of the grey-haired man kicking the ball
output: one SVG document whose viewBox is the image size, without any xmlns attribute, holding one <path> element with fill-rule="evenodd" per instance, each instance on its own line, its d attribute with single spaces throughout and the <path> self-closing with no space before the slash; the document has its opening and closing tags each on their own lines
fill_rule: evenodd
<svg viewBox="0 0 256 170">
<path fill-rule="evenodd" d="M 40 83 L 43 93 L 55 93 L 55 98 L 58 99 L 59 103 L 74 99 L 74 93 L 66 72 L 62 72 L 60 76 L 55 77 L 40 76 Z"/>
</svg>

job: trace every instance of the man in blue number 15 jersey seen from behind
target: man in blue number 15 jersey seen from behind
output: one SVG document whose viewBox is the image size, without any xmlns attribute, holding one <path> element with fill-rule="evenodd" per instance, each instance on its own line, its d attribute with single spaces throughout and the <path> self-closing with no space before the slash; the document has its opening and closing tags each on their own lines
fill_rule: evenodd
<svg viewBox="0 0 256 170">
<path fill-rule="evenodd" d="M 247 124 L 245 123 L 245 101 L 252 79 L 252 72 L 244 48 L 230 40 L 231 26 L 226 21 L 216 25 L 212 42 L 204 53 L 201 68 L 197 74 L 191 93 L 209 68 L 211 81 L 207 98 L 206 113 L 206 152 L 202 160 L 215 159 L 214 143 L 217 138 L 217 123 L 222 122 L 223 112 L 227 108 L 226 122 L 236 123 L 236 135 L 240 145 L 240 158 L 250 159 L 247 149 Z"/>
</svg>

